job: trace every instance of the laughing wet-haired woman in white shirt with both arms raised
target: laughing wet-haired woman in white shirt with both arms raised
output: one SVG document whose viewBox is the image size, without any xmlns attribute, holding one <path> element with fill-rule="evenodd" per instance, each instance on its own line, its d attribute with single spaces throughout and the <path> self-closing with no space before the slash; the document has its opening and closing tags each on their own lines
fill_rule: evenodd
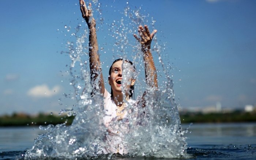
<svg viewBox="0 0 256 160">
<path fill-rule="evenodd" d="M 91 4 L 89 4 L 91 7 Z M 108 135 L 105 136 L 106 142 L 109 144 L 108 148 L 103 149 L 103 153 L 125 153 L 125 146 L 122 144 L 121 133 L 111 126 L 111 121 L 122 120 L 126 117 L 127 112 L 124 108 L 127 106 L 126 103 L 135 105 L 135 101 L 131 99 L 133 96 L 133 89 L 135 79 L 131 77 L 129 83 L 125 86 L 125 93 L 122 92 L 122 65 L 123 63 L 130 64 L 132 69 L 135 70 L 131 61 L 117 59 L 113 62 L 109 69 L 108 83 L 111 86 L 111 94 L 105 89 L 103 76 L 101 72 L 101 63 L 99 61 L 98 42 L 96 37 L 96 22 L 91 14 L 91 10 L 87 9 L 84 0 L 80 0 L 80 10 L 82 16 L 89 27 L 89 61 L 91 71 L 91 82 L 93 84 L 93 92 L 101 93 L 104 96 L 104 110 L 106 116 L 103 118 L 105 126 L 108 128 Z M 151 34 L 148 27 L 145 25 L 144 28 L 139 26 L 138 33 L 140 38 L 134 34 L 134 37 L 140 42 L 141 49 L 143 52 L 143 59 L 145 64 L 145 75 L 146 84 L 155 90 L 158 89 L 157 84 L 157 72 L 155 69 L 153 57 L 150 51 L 151 41 L 157 30 L 154 30 Z M 142 98 L 139 99 L 142 103 L 142 107 L 146 106 L 144 96 L 147 94 L 145 91 Z"/>
</svg>

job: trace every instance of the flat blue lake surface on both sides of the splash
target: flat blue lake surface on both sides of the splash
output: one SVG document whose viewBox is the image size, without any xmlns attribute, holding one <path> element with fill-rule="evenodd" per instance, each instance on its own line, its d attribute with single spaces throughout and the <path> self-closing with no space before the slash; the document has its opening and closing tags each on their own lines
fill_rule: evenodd
<svg viewBox="0 0 256 160">
<path fill-rule="evenodd" d="M 0 159 L 22 158 L 42 133 L 38 127 L 0 127 Z M 184 136 L 190 159 L 256 159 L 256 123 L 196 123 Z"/>
</svg>

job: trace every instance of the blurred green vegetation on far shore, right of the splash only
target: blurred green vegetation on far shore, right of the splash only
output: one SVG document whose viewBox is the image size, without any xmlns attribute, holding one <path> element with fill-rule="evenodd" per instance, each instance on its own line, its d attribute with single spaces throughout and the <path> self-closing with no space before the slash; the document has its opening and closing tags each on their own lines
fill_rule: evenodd
<svg viewBox="0 0 256 160">
<path fill-rule="evenodd" d="M 256 122 L 256 112 L 233 111 L 231 113 L 180 114 L 181 123 Z"/>
</svg>

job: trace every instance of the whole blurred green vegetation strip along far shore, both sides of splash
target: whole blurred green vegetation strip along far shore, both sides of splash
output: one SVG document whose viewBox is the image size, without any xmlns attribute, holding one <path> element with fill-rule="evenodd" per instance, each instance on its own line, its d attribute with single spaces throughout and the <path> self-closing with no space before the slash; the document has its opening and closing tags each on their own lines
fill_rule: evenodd
<svg viewBox="0 0 256 160">
<path fill-rule="evenodd" d="M 71 125 L 74 116 L 56 116 L 40 113 L 31 116 L 22 113 L 3 115 L 0 117 L 0 126 L 36 126 L 57 125 L 65 123 Z M 221 123 L 221 122 L 256 122 L 256 112 L 233 111 L 231 113 L 180 113 L 181 123 Z"/>
</svg>

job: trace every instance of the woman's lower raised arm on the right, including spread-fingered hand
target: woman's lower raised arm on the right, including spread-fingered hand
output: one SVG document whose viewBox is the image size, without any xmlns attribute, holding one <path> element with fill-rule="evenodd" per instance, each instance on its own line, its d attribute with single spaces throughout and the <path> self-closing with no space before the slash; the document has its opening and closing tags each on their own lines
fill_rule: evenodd
<svg viewBox="0 0 256 160">
<path fill-rule="evenodd" d="M 155 90 L 157 90 L 158 89 L 157 71 L 155 69 L 153 56 L 152 56 L 151 50 L 150 50 L 151 41 L 152 41 L 155 33 L 157 32 L 157 30 L 154 30 L 150 34 L 150 31 L 148 30 L 147 25 L 145 25 L 144 28 L 142 26 L 139 26 L 138 32 L 139 32 L 139 35 L 141 38 L 138 38 L 136 34 L 134 34 L 134 37 L 140 42 L 141 49 L 143 52 L 146 84 L 148 85 L 148 87 L 151 87 L 151 88 L 154 88 Z"/>
</svg>

